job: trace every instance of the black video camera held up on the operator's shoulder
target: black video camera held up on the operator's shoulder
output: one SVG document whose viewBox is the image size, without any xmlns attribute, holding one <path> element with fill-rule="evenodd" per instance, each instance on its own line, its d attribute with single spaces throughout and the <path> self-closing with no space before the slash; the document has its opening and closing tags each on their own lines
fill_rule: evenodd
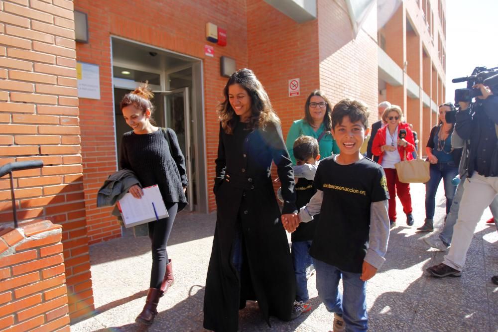
<svg viewBox="0 0 498 332">
<path fill-rule="evenodd" d="M 498 93 L 498 67 L 491 69 L 476 67 L 471 76 L 455 78 L 451 82 L 467 82 L 466 89 L 455 90 L 455 106 L 459 107 L 459 102 L 471 103 L 473 98 L 482 96 L 480 89 L 473 88 L 476 84 L 482 83 L 490 87 L 493 94 Z"/>
</svg>

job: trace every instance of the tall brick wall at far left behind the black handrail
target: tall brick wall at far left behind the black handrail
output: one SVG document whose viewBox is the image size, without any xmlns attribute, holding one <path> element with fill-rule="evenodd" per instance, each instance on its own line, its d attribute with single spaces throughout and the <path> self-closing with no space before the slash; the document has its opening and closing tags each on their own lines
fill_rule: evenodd
<svg viewBox="0 0 498 332">
<path fill-rule="evenodd" d="M 14 3 L 15 2 L 15 3 Z M 20 220 L 62 224 L 72 317 L 93 309 L 85 227 L 76 90 L 73 2 L 0 2 L 0 164 L 43 160 L 13 173 Z M 12 221 L 9 182 L 0 180 L 0 222 Z M 85 280 L 85 287 L 81 287 Z M 81 292 L 76 292 L 79 287 Z M 81 299 L 78 308 L 74 299 Z"/>
</svg>

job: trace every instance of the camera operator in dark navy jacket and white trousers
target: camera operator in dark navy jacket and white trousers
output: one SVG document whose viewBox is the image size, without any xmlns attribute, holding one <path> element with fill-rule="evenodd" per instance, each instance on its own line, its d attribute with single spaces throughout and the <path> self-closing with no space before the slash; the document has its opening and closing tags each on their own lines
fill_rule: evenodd
<svg viewBox="0 0 498 332">
<path fill-rule="evenodd" d="M 476 225 L 498 193 L 498 96 L 483 84 L 475 88 L 482 96 L 474 104 L 460 102 L 455 115 L 455 130 L 462 139 L 470 140 L 467 179 L 462 183 L 465 191 L 449 253 L 443 263 L 427 269 L 435 277 L 462 275 Z"/>
</svg>

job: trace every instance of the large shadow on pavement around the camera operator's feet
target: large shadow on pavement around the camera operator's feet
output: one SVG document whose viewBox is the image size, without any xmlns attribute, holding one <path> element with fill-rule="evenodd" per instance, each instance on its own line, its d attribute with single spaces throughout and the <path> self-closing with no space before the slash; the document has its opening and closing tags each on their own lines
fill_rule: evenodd
<svg viewBox="0 0 498 332">
<path fill-rule="evenodd" d="M 401 237 L 406 235 L 398 229 L 399 227 L 393 229 L 390 234 L 397 246 L 402 245 Z M 497 229 L 494 225 L 484 228 L 474 234 L 474 239 L 482 239 L 483 236 L 495 231 Z M 438 233 L 439 230 L 436 230 L 436 234 Z M 484 261 L 481 262 L 486 247 L 494 248 L 495 245 L 485 243 L 484 246 L 471 246 L 462 277 L 434 278 L 429 276 L 426 269 L 441 263 L 445 252 L 427 251 L 429 247 L 421 240 L 417 240 L 415 246 L 410 248 L 391 246 L 390 255 L 395 258 L 389 258 L 388 252 L 386 264 L 381 272 L 391 269 L 404 270 L 425 262 L 421 266 L 420 276 L 404 291 L 385 292 L 375 298 L 369 310 L 369 330 L 497 331 L 493 326 L 476 325 L 476 322 L 489 321 L 490 308 L 483 301 L 488 295 L 485 292 L 486 287 L 482 287 L 491 284 L 491 276 L 483 268 Z M 396 250 L 399 252 L 396 253 Z M 403 277 L 402 273 L 396 276 Z M 395 283 L 396 280 L 392 282 Z"/>
</svg>

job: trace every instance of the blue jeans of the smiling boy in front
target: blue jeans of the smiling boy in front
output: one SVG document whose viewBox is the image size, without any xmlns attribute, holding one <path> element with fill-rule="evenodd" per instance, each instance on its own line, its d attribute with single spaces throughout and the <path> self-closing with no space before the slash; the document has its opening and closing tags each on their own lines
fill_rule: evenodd
<svg viewBox="0 0 498 332">
<path fill-rule="evenodd" d="M 315 259 L 316 289 L 325 308 L 342 316 L 346 331 L 367 331 L 368 315 L 366 282 L 361 273 L 341 271 L 337 267 Z M 344 295 L 339 291 L 339 280 L 343 280 Z"/>
</svg>

